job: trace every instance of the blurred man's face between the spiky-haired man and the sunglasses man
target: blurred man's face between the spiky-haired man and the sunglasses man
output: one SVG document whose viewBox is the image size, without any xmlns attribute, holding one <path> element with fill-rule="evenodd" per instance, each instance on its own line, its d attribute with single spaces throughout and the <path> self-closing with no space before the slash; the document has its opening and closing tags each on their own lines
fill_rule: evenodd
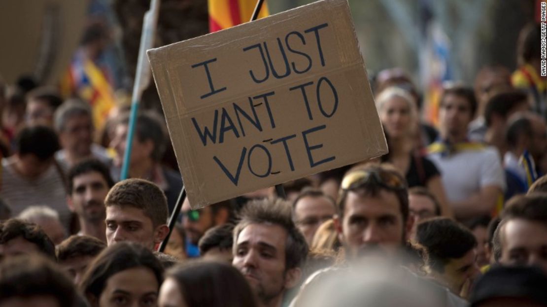
<svg viewBox="0 0 547 307">
<path fill-rule="evenodd" d="M 304 234 L 309 246 L 317 228 L 329 218 L 333 218 L 335 213 L 333 202 L 324 196 L 305 196 L 296 202 L 294 209 L 296 226 Z"/>
</svg>

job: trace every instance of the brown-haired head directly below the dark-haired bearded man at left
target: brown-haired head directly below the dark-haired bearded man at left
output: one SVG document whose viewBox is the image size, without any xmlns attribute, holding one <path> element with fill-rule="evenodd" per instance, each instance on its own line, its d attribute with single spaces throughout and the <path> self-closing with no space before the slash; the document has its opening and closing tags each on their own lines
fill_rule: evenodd
<svg viewBox="0 0 547 307">
<path fill-rule="evenodd" d="M 82 279 L 88 264 L 97 256 L 106 244 L 103 241 L 86 235 L 70 236 L 57 245 L 57 262 L 76 285 Z"/>
</svg>

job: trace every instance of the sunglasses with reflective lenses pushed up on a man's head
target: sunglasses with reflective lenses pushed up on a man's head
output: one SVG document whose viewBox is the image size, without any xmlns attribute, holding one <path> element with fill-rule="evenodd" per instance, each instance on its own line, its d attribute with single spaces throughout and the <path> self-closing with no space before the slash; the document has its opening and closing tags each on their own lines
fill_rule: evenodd
<svg viewBox="0 0 547 307">
<path fill-rule="evenodd" d="M 356 170 L 350 172 L 344 176 L 340 187 L 342 190 L 352 190 L 370 183 L 391 190 L 406 189 L 406 182 L 402 177 L 389 171 L 377 170 Z"/>
</svg>

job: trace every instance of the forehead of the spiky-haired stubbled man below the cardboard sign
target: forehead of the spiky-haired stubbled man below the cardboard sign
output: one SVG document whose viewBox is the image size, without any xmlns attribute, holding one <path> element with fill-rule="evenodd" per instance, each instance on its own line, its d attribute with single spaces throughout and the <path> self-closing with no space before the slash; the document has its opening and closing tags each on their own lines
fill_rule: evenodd
<svg viewBox="0 0 547 307">
<path fill-rule="evenodd" d="M 237 236 L 237 244 L 270 245 L 278 250 L 285 248 L 287 230 L 276 224 L 253 223 L 243 228 Z"/>
</svg>

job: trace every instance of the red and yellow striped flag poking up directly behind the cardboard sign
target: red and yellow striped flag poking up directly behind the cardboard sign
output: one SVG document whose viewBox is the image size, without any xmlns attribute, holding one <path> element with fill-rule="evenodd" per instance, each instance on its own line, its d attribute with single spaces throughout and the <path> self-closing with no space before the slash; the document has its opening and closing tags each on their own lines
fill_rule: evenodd
<svg viewBox="0 0 547 307">
<path fill-rule="evenodd" d="M 209 31 L 216 32 L 251 20 L 257 0 L 208 0 Z M 266 2 L 258 18 L 269 15 Z"/>
</svg>

